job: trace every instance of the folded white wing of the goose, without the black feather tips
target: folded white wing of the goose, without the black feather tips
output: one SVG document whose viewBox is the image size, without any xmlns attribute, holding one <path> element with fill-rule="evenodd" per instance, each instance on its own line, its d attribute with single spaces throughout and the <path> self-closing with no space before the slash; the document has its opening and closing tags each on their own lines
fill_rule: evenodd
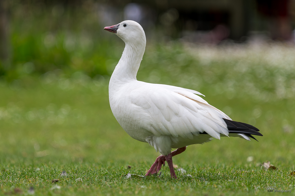
<svg viewBox="0 0 295 196">
<path fill-rule="evenodd" d="M 141 128 L 156 136 L 193 139 L 194 135 L 206 132 L 220 139 L 220 134 L 228 135 L 222 118 L 230 118 L 194 93 L 201 95 L 185 88 L 145 83 L 131 91 L 130 97 L 133 104 L 144 110 Z"/>
</svg>

